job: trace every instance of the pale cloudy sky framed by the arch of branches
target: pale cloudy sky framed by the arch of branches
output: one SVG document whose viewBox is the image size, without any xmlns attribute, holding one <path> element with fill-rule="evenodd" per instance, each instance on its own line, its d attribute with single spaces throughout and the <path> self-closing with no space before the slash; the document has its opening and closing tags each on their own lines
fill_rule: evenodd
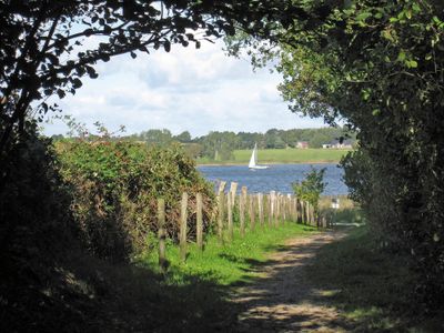
<svg viewBox="0 0 444 333">
<path fill-rule="evenodd" d="M 92 129 L 97 121 L 125 134 L 169 129 L 192 137 L 210 131 L 266 132 L 269 129 L 320 128 L 323 120 L 301 118 L 287 109 L 270 69 L 253 71 L 248 59 L 225 56 L 222 42 L 201 49 L 172 47 L 132 59 L 123 54 L 97 67 L 99 78 L 83 79 L 75 95 L 57 102 Z M 60 120 L 43 124 L 44 133 L 65 134 Z"/>
</svg>

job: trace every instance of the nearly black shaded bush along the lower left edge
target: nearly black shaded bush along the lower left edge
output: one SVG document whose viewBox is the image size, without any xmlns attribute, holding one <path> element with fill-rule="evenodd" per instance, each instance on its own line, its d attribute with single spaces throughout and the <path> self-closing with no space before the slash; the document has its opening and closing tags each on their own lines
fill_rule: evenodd
<svg viewBox="0 0 444 333">
<path fill-rule="evenodd" d="M 67 254 L 79 250 L 71 199 L 51 141 L 40 138 L 32 123 L 14 139 L 1 160 L 1 329 L 51 332 L 58 322 L 81 320 L 79 309 L 65 304 L 81 295 L 69 290 L 60 273 Z"/>
</svg>

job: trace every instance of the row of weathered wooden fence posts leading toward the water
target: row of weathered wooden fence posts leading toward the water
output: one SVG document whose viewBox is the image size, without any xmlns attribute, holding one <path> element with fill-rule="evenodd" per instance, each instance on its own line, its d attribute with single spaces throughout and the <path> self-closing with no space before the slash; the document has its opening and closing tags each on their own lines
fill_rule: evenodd
<svg viewBox="0 0 444 333">
<path fill-rule="evenodd" d="M 246 186 L 242 186 L 238 195 L 238 183 L 232 182 L 225 193 L 226 182 L 221 182 L 218 190 L 218 210 L 214 220 L 216 222 L 216 235 L 220 244 L 231 242 L 234 238 L 234 214 L 238 215 L 240 236 L 245 236 L 246 231 L 258 228 L 279 228 L 284 223 L 301 223 L 317 228 L 327 228 L 327 221 L 323 216 L 315 218 L 314 208 L 306 201 L 301 201 L 292 194 L 281 194 L 271 191 L 270 194 L 248 193 Z M 186 260 L 186 218 L 189 194 L 182 193 L 179 246 L 180 258 Z M 196 245 L 203 251 L 203 203 L 202 194 L 198 193 L 196 200 Z M 165 239 L 165 203 L 158 200 L 159 223 L 159 264 L 162 269 L 167 265 Z"/>
</svg>

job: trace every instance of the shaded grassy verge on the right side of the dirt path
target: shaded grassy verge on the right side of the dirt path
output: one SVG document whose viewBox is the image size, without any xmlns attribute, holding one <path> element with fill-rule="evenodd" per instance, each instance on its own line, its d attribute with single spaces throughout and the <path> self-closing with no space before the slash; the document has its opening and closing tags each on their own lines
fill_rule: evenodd
<svg viewBox="0 0 444 333">
<path fill-rule="evenodd" d="M 374 249 L 366 226 L 321 249 L 309 274 L 329 290 L 327 303 L 344 313 L 354 332 L 443 332 L 442 322 L 412 311 L 416 276 L 408 259 Z"/>
</svg>

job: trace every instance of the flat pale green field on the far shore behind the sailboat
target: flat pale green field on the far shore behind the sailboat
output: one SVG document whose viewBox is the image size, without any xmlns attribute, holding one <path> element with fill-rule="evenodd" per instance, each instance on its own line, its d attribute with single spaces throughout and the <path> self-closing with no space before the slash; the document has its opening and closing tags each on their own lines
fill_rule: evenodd
<svg viewBox="0 0 444 333">
<path fill-rule="evenodd" d="M 265 149 L 259 150 L 258 160 L 266 163 L 337 163 L 347 153 L 347 149 Z M 251 150 L 235 150 L 234 159 L 229 161 L 211 161 L 198 159 L 198 164 L 244 164 L 250 161 Z"/>
</svg>

